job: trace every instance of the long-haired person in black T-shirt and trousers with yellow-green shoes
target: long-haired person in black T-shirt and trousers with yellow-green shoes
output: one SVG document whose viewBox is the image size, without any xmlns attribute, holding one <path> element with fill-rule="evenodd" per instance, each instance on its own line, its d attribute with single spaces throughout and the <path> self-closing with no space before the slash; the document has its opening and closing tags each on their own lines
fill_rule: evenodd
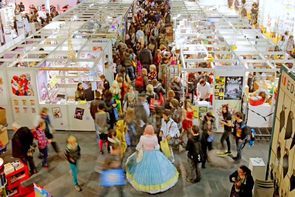
<svg viewBox="0 0 295 197">
<path fill-rule="evenodd" d="M 220 152 L 221 156 L 231 155 L 231 142 L 230 142 L 230 134 L 232 133 L 232 115 L 229 112 L 229 106 L 228 104 L 225 104 L 222 106 L 222 115 L 223 119 L 219 120 L 219 123 L 224 125 L 224 132 L 222 133 L 220 142 L 222 145 L 222 148 L 224 149 L 224 140 L 226 140 L 227 143 L 227 151 Z"/>
</svg>

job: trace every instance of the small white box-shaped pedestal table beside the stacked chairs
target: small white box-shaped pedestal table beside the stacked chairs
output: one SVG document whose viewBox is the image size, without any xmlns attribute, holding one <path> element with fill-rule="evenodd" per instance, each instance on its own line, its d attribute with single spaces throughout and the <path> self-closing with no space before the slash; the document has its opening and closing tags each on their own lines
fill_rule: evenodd
<svg viewBox="0 0 295 197">
<path fill-rule="evenodd" d="M 266 164 L 263 160 L 260 163 L 255 162 L 256 158 L 249 158 L 249 166 L 248 168 L 252 171 L 253 180 L 255 182 L 258 180 L 266 179 Z"/>
</svg>

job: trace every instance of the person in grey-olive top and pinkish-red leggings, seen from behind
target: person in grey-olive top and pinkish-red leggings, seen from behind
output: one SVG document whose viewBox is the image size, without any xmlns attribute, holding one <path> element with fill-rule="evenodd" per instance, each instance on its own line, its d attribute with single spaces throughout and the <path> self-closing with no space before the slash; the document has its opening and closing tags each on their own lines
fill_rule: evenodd
<svg viewBox="0 0 295 197">
<path fill-rule="evenodd" d="M 105 108 L 102 104 L 99 104 L 97 107 L 97 112 L 95 113 L 95 121 L 98 127 L 99 133 L 99 148 L 100 154 L 103 154 L 102 143 L 103 140 L 106 141 L 106 145 L 108 147 L 108 122 L 110 122 L 110 115 L 108 112 L 105 112 Z"/>
</svg>

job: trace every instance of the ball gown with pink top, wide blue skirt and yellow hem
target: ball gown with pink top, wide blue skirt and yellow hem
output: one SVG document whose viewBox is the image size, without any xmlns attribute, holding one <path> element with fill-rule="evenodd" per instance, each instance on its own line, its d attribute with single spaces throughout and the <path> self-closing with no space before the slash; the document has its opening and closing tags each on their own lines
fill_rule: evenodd
<svg viewBox="0 0 295 197">
<path fill-rule="evenodd" d="M 136 150 L 143 147 L 143 159 L 136 162 L 133 153 L 126 162 L 126 178 L 138 191 L 156 194 L 172 188 L 178 181 L 176 167 L 159 151 L 156 135 L 142 135 Z"/>
</svg>

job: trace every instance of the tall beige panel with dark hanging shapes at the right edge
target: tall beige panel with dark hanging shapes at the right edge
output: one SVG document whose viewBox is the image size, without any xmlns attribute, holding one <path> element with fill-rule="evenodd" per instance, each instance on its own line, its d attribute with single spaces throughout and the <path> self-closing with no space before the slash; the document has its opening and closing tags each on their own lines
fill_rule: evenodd
<svg viewBox="0 0 295 197">
<path fill-rule="evenodd" d="M 291 77 L 284 70 L 282 71 L 281 66 L 282 75 L 266 173 L 267 179 L 276 183 L 276 196 L 283 193 L 286 197 L 293 197 L 295 196 L 295 97 L 292 87 L 295 86 L 295 76 Z"/>
</svg>

